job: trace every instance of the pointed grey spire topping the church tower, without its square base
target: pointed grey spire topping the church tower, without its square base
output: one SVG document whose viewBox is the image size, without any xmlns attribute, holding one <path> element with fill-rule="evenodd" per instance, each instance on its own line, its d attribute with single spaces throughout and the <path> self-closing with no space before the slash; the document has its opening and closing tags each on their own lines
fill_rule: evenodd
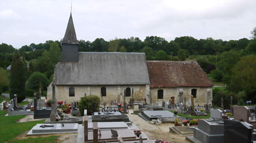
<svg viewBox="0 0 256 143">
<path fill-rule="evenodd" d="M 62 40 L 62 43 L 66 44 L 78 44 L 78 40 L 76 39 L 76 31 L 73 24 L 72 14 L 70 13 L 69 22 L 67 25 L 65 36 Z"/>
</svg>

